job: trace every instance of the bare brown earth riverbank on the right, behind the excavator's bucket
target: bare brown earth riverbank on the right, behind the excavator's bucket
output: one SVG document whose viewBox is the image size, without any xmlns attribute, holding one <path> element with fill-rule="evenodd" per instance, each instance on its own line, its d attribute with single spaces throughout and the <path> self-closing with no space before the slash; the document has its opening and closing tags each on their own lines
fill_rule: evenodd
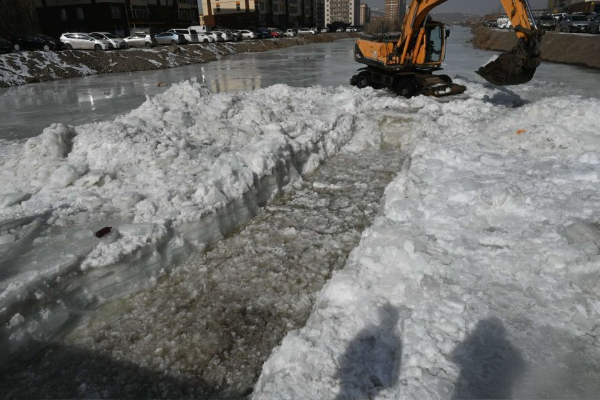
<svg viewBox="0 0 600 400">
<path fill-rule="evenodd" d="M 472 32 L 474 46 L 483 50 L 510 51 L 517 44 L 512 30 L 475 26 Z M 546 32 L 540 50 L 544 61 L 600 68 L 599 35 Z"/>
</svg>

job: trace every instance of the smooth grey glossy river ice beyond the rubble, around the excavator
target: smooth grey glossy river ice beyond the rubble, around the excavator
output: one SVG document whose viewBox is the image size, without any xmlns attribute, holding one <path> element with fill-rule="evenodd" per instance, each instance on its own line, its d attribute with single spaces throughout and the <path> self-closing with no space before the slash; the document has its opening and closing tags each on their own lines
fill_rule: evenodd
<svg viewBox="0 0 600 400">
<path fill-rule="evenodd" d="M 475 70 L 492 52 L 475 50 L 466 28 L 452 27 L 445 72 L 483 81 Z M 359 68 L 353 61 L 353 39 L 297 46 L 270 52 L 237 54 L 221 61 L 150 72 L 100 74 L 0 88 L 0 139 L 37 136 L 50 123 L 79 124 L 113 119 L 138 107 L 146 96 L 164 92 L 172 83 L 196 79 L 213 92 L 255 90 L 275 83 L 307 87 L 348 85 Z M 597 71 L 542 63 L 534 81 L 548 94 L 568 92 L 594 96 L 600 90 Z M 557 79 L 560 77 L 560 79 Z M 168 86 L 159 87 L 157 83 Z"/>
</svg>

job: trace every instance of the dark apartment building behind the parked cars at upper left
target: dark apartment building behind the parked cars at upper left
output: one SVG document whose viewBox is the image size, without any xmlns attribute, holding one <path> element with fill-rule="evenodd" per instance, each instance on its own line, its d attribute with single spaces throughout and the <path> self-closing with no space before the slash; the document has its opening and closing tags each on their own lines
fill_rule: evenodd
<svg viewBox="0 0 600 400">
<path fill-rule="evenodd" d="M 198 24 L 197 0 L 35 0 L 41 29 L 63 32 L 162 32 Z"/>
</svg>

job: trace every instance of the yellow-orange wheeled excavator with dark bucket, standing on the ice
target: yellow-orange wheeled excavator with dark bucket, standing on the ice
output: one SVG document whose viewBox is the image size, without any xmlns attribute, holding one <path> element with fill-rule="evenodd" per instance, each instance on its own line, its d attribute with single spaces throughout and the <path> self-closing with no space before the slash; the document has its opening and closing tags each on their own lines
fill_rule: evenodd
<svg viewBox="0 0 600 400">
<path fill-rule="evenodd" d="M 460 94 L 465 86 L 452 83 L 448 75 L 437 75 L 446 55 L 450 31 L 433 21 L 431 10 L 447 0 L 412 0 L 404 18 L 399 39 L 379 37 L 357 40 L 354 60 L 366 64 L 350 79 L 359 88 L 388 88 L 399 96 L 448 96 Z M 540 63 L 541 37 L 527 0 L 500 0 L 518 42 L 511 52 L 500 54 L 477 73 L 497 86 L 530 81 Z"/>
</svg>

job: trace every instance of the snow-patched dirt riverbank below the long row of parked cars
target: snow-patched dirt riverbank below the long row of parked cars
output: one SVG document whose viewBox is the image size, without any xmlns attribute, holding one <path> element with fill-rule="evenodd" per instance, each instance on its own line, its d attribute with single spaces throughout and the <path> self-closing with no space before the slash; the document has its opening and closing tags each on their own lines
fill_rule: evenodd
<svg viewBox="0 0 600 400">
<path fill-rule="evenodd" d="M 190 44 L 128 50 L 16 52 L 0 55 L 0 88 L 54 81 L 92 74 L 160 70 L 206 63 L 243 52 L 262 52 L 310 43 L 325 43 L 357 33 L 324 33 L 311 36 L 248 40 L 237 43 Z"/>
</svg>

